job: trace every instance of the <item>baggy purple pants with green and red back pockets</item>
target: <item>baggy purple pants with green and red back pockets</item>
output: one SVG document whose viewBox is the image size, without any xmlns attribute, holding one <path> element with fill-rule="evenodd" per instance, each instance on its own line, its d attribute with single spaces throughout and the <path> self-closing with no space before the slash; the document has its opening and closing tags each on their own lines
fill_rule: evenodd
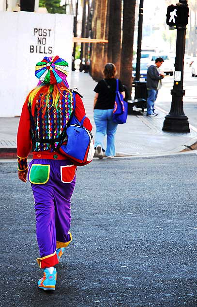
<svg viewBox="0 0 197 307">
<path fill-rule="evenodd" d="M 76 183 L 76 166 L 69 160 L 33 159 L 28 179 L 36 211 L 36 235 L 40 268 L 58 263 L 56 248 L 72 240 L 70 199 Z"/>
</svg>

